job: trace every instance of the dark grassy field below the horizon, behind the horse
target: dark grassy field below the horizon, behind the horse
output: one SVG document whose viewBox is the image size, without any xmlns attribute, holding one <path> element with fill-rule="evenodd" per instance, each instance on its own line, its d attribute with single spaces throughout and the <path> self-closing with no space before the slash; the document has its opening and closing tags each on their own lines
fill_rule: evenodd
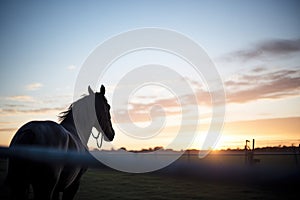
<svg viewBox="0 0 300 200">
<path fill-rule="evenodd" d="M 259 158 L 257 166 L 245 167 L 241 155 L 210 155 L 203 160 L 183 156 L 163 170 L 146 174 L 91 168 L 82 178 L 76 199 L 297 199 L 300 168 L 294 156 Z M 265 168 L 274 163 L 281 165 Z M 0 170 L 3 183 L 5 159 Z M 0 199 L 8 199 L 7 187 L 1 187 Z"/>
</svg>

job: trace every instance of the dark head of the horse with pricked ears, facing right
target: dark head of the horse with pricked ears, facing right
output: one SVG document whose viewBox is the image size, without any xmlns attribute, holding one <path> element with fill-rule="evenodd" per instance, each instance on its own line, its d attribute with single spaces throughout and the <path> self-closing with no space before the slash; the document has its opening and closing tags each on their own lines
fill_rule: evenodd
<svg viewBox="0 0 300 200">
<path fill-rule="evenodd" d="M 94 127 L 97 131 L 104 134 L 105 141 L 112 141 L 115 136 L 115 131 L 112 127 L 111 116 L 110 116 L 110 105 L 107 103 L 105 98 L 105 87 L 101 85 L 100 92 L 93 92 L 89 87 L 89 94 L 95 95 L 95 110 L 97 120 Z"/>
</svg>

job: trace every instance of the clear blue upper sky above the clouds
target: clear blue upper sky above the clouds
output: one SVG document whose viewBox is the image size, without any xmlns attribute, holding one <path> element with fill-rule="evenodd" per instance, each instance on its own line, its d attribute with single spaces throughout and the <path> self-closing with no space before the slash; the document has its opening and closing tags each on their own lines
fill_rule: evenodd
<svg viewBox="0 0 300 200">
<path fill-rule="evenodd" d="M 65 66 L 80 66 L 96 45 L 134 28 L 179 31 L 213 58 L 265 39 L 298 38 L 300 31 L 298 1 L 5 2 L 0 8 L 0 87 L 6 92 L 11 77 L 21 85 L 32 77 L 45 85 L 62 84 L 74 76 Z M 55 81 L 47 78 L 56 73 L 62 75 Z M 10 83 L 14 90 L 18 85 Z"/>
</svg>

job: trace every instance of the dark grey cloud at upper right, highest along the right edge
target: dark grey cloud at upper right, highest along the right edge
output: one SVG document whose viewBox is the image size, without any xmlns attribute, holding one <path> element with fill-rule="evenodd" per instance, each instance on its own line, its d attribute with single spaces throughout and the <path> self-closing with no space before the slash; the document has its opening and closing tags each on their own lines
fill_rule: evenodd
<svg viewBox="0 0 300 200">
<path fill-rule="evenodd" d="M 254 45 L 253 48 L 238 50 L 225 56 L 226 60 L 239 59 L 249 61 L 253 59 L 272 58 L 290 55 L 300 52 L 300 38 L 298 39 L 274 39 L 263 41 Z"/>
</svg>

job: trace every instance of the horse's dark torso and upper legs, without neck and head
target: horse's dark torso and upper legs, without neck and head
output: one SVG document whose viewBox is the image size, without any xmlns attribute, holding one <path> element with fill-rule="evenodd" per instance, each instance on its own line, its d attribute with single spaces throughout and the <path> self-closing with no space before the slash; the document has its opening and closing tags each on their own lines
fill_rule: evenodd
<svg viewBox="0 0 300 200">
<path fill-rule="evenodd" d="M 86 151 L 78 137 L 72 135 L 62 125 L 52 121 L 33 121 L 22 126 L 13 138 L 10 148 L 21 145 L 53 148 L 62 152 Z M 52 196 L 55 189 L 57 192 L 67 189 L 80 178 L 78 176 L 82 175 L 83 171 L 80 167 L 64 166 L 58 163 L 45 164 L 43 161 L 37 163 L 30 160 L 11 159 L 8 178 L 11 186 L 18 191 L 13 193 L 16 198 L 25 198 L 29 184 L 32 184 L 36 198 L 45 199 L 46 196 Z"/>
</svg>

